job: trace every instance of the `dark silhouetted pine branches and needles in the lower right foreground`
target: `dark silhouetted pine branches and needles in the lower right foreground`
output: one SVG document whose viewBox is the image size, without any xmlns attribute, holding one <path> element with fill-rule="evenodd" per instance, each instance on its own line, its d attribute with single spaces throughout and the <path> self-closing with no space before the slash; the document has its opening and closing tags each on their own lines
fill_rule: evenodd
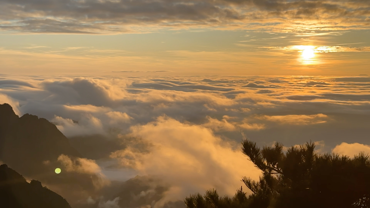
<svg viewBox="0 0 370 208">
<path fill-rule="evenodd" d="M 315 144 L 299 147 L 263 147 L 242 141 L 242 152 L 262 171 L 258 181 L 243 177 L 233 198 L 219 197 L 215 189 L 185 199 L 188 208 L 370 208 L 370 157 L 316 154 Z"/>
</svg>

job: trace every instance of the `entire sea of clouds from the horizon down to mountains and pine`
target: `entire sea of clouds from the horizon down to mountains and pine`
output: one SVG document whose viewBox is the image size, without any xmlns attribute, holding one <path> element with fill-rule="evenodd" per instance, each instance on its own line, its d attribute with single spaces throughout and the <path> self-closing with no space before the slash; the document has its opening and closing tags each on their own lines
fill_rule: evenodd
<svg viewBox="0 0 370 208">
<path fill-rule="evenodd" d="M 79 142 L 86 158 L 61 155 L 66 171 L 100 175 L 98 186 L 159 178 L 169 188 L 153 207 L 209 188 L 233 195 L 242 176 L 257 179 L 260 171 L 240 151 L 243 139 L 370 152 L 368 76 L 1 75 L 0 103 L 46 118 Z M 119 200 L 99 206 L 118 207 Z"/>
</svg>

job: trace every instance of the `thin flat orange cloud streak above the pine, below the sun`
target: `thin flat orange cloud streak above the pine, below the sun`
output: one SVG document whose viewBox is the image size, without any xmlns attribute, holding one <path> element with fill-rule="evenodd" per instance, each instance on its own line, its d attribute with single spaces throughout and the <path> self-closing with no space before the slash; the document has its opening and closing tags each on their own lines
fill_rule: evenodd
<svg viewBox="0 0 370 208">
<path fill-rule="evenodd" d="M 279 122 L 282 124 L 290 125 L 309 125 L 309 124 L 321 124 L 326 123 L 327 115 L 316 114 L 316 115 L 262 115 L 257 118 L 262 120 L 268 120 L 272 122 Z"/>
</svg>

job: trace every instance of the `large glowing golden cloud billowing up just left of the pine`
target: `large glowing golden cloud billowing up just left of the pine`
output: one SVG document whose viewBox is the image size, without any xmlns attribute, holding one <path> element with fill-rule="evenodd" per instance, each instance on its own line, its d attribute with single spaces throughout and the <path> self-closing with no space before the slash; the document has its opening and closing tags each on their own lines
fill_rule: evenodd
<svg viewBox="0 0 370 208">
<path fill-rule="evenodd" d="M 149 152 L 125 149 L 112 153 L 111 157 L 119 159 L 125 167 L 144 175 L 157 175 L 170 184 L 169 191 L 154 207 L 212 187 L 224 194 L 233 194 L 245 173 L 252 178 L 260 174 L 242 156 L 239 145 L 232 147 L 199 125 L 159 117 L 152 123 L 131 127 L 131 131 L 132 137 L 152 144 Z"/>
</svg>

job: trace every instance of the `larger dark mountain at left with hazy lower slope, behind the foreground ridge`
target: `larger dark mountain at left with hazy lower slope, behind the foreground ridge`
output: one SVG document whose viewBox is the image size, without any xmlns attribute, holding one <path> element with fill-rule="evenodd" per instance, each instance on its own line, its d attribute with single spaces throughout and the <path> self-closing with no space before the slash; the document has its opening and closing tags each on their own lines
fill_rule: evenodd
<svg viewBox="0 0 370 208">
<path fill-rule="evenodd" d="M 60 155 L 82 158 L 67 137 L 44 118 L 16 115 L 9 104 L 0 105 L 0 164 L 7 164 L 26 178 L 41 181 L 75 206 L 95 193 L 98 175 L 63 170 Z M 55 168 L 62 168 L 55 174 Z M 0 204 L 1 207 L 1 204 Z"/>
</svg>

